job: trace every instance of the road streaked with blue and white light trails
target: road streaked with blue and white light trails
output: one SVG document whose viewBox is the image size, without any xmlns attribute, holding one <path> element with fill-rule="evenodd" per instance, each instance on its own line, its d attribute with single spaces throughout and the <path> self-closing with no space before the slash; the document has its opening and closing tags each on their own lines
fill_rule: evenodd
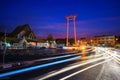
<svg viewBox="0 0 120 80">
<path fill-rule="evenodd" d="M 95 54 L 89 56 L 59 55 L 43 59 L 43 64 L 1 73 L 0 77 L 6 80 L 120 80 L 119 51 L 96 47 Z"/>
</svg>

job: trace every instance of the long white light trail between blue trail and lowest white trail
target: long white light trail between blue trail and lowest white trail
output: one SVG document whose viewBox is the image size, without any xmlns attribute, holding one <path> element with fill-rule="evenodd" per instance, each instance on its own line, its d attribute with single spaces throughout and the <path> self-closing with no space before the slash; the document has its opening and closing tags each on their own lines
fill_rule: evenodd
<svg viewBox="0 0 120 80">
<path fill-rule="evenodd" d="M 80 67 L 80 66 L 87 65 L 87 64 L 89 64 L 89 63 L 96 62 L 96 61 L 100 61 L 100 60 L 102 60 L 102 59 L 108 59 L 108 58 L 110 58 L 110 57 L 101 57 L 101 58 L 89 60 L 89 61 L 84 62 L 84 63 L 78 62 L 77 64 L 75 63 L 74 65 L 72 65 L 72 66 L 70 66 L 70 67 L 66 67 L 66 68 L 63 68 L 63 69 L 61 69 L 61 70 L 59 70 L 59 71 L 57 71 L 57 72 L 47 74 L 46 76 L 39 78 L 39 80 L 45 80 L 45 79 L 50 78 L 50 77 L 53 77 L 53 76 L 55 76 L 55 75 L 58 75 L 58 74 L 61 74 L 61 73 L 66 72 L 66 71 L 69 71 L 69 70 L 78 68 L 78 67 Z M 37 79 L 38 79 L 38 78 L 37 78 Z"/>
</svg>

